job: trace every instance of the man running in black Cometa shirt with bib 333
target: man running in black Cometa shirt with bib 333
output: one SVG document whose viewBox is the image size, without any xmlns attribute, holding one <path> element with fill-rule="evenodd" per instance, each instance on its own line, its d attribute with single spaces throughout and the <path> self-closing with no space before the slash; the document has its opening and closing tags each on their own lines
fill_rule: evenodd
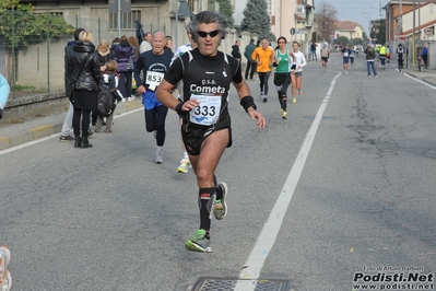
<svg viewBox="0 0 436 291">
<path fill-rule="evenodd" d="M 263 116 L 256 110 L 239 62 L 217 50 L 226 27 L 222 14 L 213 11 L 198 13 L 192 20 L 192 35 L 198 48 L 174 61 L 156 92 L 164 105 L 182 115 L 181 135 L 200 188 L 200 229 L 185 243 L 185 247 L 193 252 L 211 252 L 211 212 L 217 220 L 227 213 L 227 185 L 217 183 L 214 172 L 225 148 L 232 146 L 227 102 L 232 82 L 249 117 L 258 119 L 259 128 L 266 126 Z M 180 80 L 184 81 L 181 102 L 170 94 Z"/>
</svg>

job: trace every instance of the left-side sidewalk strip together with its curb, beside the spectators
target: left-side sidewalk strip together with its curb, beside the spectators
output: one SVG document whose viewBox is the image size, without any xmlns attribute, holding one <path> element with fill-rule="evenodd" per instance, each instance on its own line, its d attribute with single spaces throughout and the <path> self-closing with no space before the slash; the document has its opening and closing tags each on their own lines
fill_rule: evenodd
<svg viewBox="0 0 436 291">
<path fill-rule="evenodd" d="M 137 97 L 132 102 L 119 103 L 115 114 L 119 115 L 142 106 L 141 98 Z M 66 114 L 67 112 L 63 112 L 45 117 L 35 117 L 22 124 L 1 125 L 0 151 L 60 132 Z"/>
</svg>

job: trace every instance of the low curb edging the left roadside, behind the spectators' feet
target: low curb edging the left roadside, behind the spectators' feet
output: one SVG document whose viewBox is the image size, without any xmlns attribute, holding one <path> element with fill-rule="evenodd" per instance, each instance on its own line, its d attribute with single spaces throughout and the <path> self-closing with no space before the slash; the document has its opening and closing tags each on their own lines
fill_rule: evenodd
<svg viewBox="0 0 436 291">
<path fill-rule="evenodd" d="M 131 112 L 140 107 L 142 107 L 141 98 L 137 98 L 135 101 L 129 103 L 120 103 L 117 107 L 116 115 Z M 62 123 L 56 125 L 44 125 L 30 128 L 10 137 L 0 137 L 0 151 L 59 133 L 62 130 L 62 125 L 63 120 Z"/>
</svg>

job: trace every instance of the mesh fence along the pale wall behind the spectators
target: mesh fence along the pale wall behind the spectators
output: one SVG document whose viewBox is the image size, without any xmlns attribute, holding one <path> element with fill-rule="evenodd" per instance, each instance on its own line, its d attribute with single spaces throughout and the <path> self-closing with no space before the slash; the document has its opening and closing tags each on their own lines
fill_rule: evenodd
<svg viewBox="0 0 436 291">
<path fill-rule="evenodd" d="M 130 14 L 131 15 L 131 14 Z M 139 15 L 140 16 L 140 15 Z M 121 35 L 135 36 L 135 19 L 121 19 Z M 118 37 L 117 21 L 50 13 L 8 11 L 0 16 L 0 73 L 11 84 L 11 97 L 64 89 L 64 47 L 78 27 L 92 31 L 94 45 Z M 142 23 L 143 31 L 167 27 Z"/>
</svg>

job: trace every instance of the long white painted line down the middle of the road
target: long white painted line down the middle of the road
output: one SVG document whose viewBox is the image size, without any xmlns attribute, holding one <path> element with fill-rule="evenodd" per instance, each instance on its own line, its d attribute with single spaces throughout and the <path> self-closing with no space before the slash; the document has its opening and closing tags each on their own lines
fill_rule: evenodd
<svg viewBox="0 0 436 291">
<path fill-rule="evenodd" d="M 236 291 L 252 291 L 256 289 L 257 279 L 259 279 L 264 260 L 267 259 L 272 246 L 275 243 L 275 238 L 282 225 L 283 218 L 286 214 L 287 208 L 291 203 L 291 199 L 294 195 L 295 188 L 303 173 L 303 168 L 306 164 L 307 156 L 309 155 L 311 144 L 314 143 L 319 123 L 322 119 L 323 112 L 326 110 L 337 79 L 340 75 L 341 72 L 339 72 L 330 83 L 329 91 L 322 100 L 321 106 L 318 109 L 315 120 L 311 124 L 309 131 L 307 132 L 297 159 L 295 160 L 291 173 L 287 176 L 286 182 L 283 186 L 282 193 L 275 201 L 275 205 L 272 208 L 271 213 L 267 222 L 264 223 L 263 229 L 260 232 L 243 270 L 239 273 L 239 280 L 237 281 L 234 289 Z"/>
</svg>

